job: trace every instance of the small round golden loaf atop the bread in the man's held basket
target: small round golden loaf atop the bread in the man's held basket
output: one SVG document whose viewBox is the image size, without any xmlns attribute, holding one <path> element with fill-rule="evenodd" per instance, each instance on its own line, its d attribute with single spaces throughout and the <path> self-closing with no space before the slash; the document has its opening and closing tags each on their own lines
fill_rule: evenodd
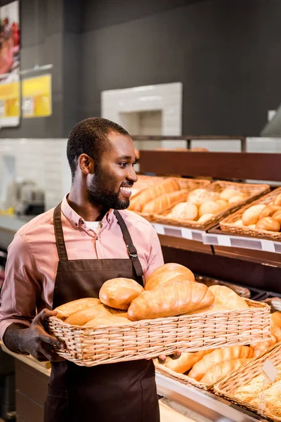
<svg viewBox="0 0 281 422">
<path fill-rule="evenodd" d="M 100 288 L 100 302 L 116 309 L 127 310 L 133 299 L 143 292 L 143 287 L 132 279 L 111 279 Z"/>
</svg>

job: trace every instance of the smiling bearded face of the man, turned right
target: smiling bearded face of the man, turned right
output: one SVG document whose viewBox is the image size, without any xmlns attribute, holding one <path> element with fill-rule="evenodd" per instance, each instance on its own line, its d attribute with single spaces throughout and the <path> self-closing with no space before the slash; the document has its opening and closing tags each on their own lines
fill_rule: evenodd
<svg viewBox="0 0 281 422">
<path fill-rule="evenodd" d="M 136 153 L 129 136 L 109 132 L 109 147 L 95 162 L 95 173 L 89 184 L 89 201 L 93 205 L 124 210 L 129 207 L 131 187 L 137 181 L 133 164 Z"/>
</svg>

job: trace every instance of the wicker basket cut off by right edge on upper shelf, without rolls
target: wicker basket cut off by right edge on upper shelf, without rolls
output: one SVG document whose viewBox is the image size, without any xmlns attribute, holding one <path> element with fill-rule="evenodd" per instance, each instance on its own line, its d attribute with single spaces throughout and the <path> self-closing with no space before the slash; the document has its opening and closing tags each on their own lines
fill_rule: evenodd
<svg viewBox="0 0 281 422">
<path fill-rule="evenodd" d="M 252 205 L 257 204 L 265 204 L 268 205 L 277 195 L 281 193 L 281 188 L 277 188 L 274 191 L 268 193 L 266 196 L 263 196 L 259 200 L 255 200 L 253 203 L 248 204 L 245 207 L 242 207 L 240 210 L 235 212 L 234 214 L 226 217 L 220 222 L 221 230 L 227 231 L 229 234 L 237 234 L 237 235 L 247 235 L 253 236 L 255 238 L 265 238 L 270 241 L 281 241 L 281 232 L 278 231 L 277 233 L 274 231 L 266 231 L 266 230 L 259 230 L 259 229 L 249 229 L 247 226 L 234 226 L 233 223 L 237 222 L 237 220 L 242 219 L 242 215 L 247 208 L 251 207 Z"/>
</svg>

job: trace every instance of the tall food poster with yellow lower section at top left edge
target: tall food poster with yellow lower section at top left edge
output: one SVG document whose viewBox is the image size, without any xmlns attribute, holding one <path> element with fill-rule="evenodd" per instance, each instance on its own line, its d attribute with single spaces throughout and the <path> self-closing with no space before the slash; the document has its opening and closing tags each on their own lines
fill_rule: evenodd
<svg viewBox="0 0 281 422">
<path fill-rule="evenodd" d="M 0 128 L 20 123 L 19 3 L 0 7 Z"/>
</svg>

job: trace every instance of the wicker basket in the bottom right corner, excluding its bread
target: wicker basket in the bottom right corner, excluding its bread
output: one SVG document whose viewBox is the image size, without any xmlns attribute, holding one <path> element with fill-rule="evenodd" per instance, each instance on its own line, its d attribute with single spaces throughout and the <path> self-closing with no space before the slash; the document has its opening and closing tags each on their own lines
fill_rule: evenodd
<svg viewBox="0 0 281 422">
<path fill-rule="evenodd" d="M 238 387 L 249 383 L 253 378 L 262 374 L 261 369 L 266 359 L 270 359 L 270 361 L 275 365 L 281 363 L 281 343 L 270 347 L 270 349 L 261 354 L 261 356 L 254 358 L 248 364 L 243 365 L 240 369 L 237 369 L 237 371 L 230 373 L 229 376 L 215 383 L 214 392 L 217 395 L 230 400 L 230 402 L 244 407 L 244 409 L 261 414 L 272 421 L 281 421 L 281 417 L 269 414 L 268 411 L 262 412 L 258 406 L 244 402 L 233 395 Z"/>
</svg>

